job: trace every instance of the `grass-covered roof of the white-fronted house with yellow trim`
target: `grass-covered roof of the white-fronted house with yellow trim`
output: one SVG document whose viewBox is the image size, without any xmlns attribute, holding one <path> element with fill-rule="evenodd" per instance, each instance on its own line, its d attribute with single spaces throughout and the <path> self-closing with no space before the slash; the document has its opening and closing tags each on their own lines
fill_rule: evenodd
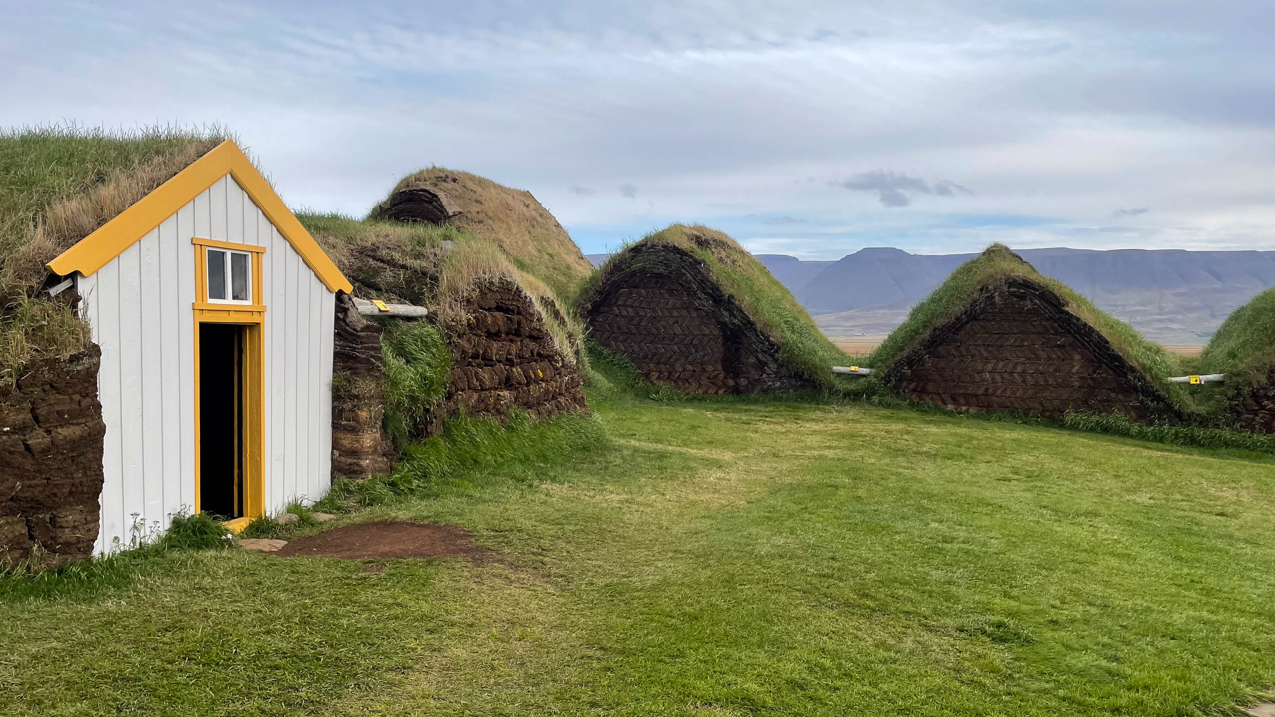
<svg viewBox="0 0 1275 717">
<path fill-rule="evenodd" d="M 38 356 L 82 350 L 88 332 L 41 296 L 45 264 L 227 138 L 221 129 L 0 129 L 0 384 Z"/>
</svg>

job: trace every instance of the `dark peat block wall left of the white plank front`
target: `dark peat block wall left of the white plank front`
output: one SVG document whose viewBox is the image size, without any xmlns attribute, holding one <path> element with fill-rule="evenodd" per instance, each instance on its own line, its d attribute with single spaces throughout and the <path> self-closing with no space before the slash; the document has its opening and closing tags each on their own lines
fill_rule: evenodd
<svg viewBox="0 0 1275 717">
<path fill-rule="evenodd" d="M 102 494 L 101 351 L 22 367 L 0 388 L 0 565 L 88 558 Z"/>
</svg>

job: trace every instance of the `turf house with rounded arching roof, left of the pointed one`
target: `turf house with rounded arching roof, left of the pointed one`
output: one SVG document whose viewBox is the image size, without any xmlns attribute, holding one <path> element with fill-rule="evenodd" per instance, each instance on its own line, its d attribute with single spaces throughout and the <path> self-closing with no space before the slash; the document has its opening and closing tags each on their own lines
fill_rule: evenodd
<svg viewBox="0 0 1275 717">
<path fill-rule="evenodd" d="M 847 357 L 729 236 L 671 226 L 612 256 L 580 300 L 589 337 L 695 394 L 831 388 Z"/>
</svg>

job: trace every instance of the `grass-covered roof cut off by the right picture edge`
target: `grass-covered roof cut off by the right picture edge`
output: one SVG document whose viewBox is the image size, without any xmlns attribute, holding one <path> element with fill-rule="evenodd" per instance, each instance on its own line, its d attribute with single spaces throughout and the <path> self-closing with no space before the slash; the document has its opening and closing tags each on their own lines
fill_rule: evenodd
<svg viewBox="0 0 1275 717">
<path fill-rule="evenodd" d="M 1200 371 L 1227 374 L 1232 387 L 1265 383 L 1275 367 L 1275 288 L 1235 309 L 1200 355 Z"/>
</svg>

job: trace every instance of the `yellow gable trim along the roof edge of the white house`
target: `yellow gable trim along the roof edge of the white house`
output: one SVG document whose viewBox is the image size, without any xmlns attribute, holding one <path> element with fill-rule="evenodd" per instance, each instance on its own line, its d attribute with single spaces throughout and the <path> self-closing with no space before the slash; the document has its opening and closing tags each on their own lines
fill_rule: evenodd
<svg viewBox="0 0 1275 717">
<path fill-rule="evenodd" d="M 143 196 L 102 228 L 62 251 L 48 263 L 48 270 L 59 276 L 71 272 L 79 272 L 85 277 L 93 274 L 227 174 L 235 177 L 235 181 L 252 198 L 328 291 L 340 290 L 348 293 L 353 288 L 349 279 L 342 276 L 310 232 L 270 189 L 265 177 L 229 139 L 177 172 L 177 176 Z"/>
</svg>

